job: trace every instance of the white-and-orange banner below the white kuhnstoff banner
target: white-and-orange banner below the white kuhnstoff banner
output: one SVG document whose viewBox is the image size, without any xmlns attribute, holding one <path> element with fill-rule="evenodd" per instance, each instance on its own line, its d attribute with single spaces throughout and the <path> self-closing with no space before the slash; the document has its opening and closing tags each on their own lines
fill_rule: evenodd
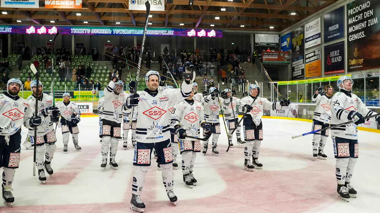
<svg viewBox="0 0 380 213">
<path fill-rule="evenodd" d="M 321 76 L 322 49 L 316 49 L 305 53 L 305 77 Z"/>
</svg>

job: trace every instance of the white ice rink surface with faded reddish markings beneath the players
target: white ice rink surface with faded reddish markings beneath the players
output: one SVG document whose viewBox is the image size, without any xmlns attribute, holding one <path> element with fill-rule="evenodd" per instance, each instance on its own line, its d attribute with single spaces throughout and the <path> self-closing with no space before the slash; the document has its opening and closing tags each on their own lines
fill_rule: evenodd
<svg viewBox="0 0 380 213">
<path fill-rule="evenodd" d="M 32 176 L 33 150 L 21 148 L 20 167 L 13 183 L 13 207 L 0 204 L 0 213 L 125 213 L 131 199 L 133 148 L 128 135 L 128 149 L 122 141 L 116 162 L 119 169 L 107 165 L 102 171 L 98 117 L 83 117 L 79 125 L 79 145 L 62 151 L 62 133 L 57 129 L 57 150 L 52 160 L 54 174 L 47 175 L 46 184 Z M 325 147 L 327 160 L 312 157 L 312 135 L 291 139 L 309 132 L 312 123 L 282 119 L 263 119 L 264 140 L 261 143 L 262 170 L 244 171 L 244 146 L 228 153 L 227 136 L 221 125 L 218 157 L 209 150 L 197 153 L 194 176 L 198 180 L 192 189 L 182 181 L 181 157 L 174 170 L 174 193 L 177 206 L 169 202 L 161 180 L 161 171 L 152 156 L 142 191 L 147 213 L 294 213 L 294 212 L 380 212 L 380 141 L 378 133 L 359 131 L 359 159 L 351 185 L 358 191 L 350 202 L 337 197 L 335 159 L 332 140 Z M 24 128 L 24 127 L 23 127 Z M 27 135 L 22 130 L 22 142 Z M 0 171 L 2 172 L 2 171 Z M 38 175 L 38 174 L 37 174 Z"/>
</svg>

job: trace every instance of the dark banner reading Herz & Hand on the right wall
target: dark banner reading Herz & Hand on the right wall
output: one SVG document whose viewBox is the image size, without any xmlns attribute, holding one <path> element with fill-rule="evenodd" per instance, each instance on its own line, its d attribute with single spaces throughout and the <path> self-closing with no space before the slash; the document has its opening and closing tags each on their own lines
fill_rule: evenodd
<svg viewBox="0 0 380 213">
<path fill-rule="evenodd" d="M 325 75 L 344 72 L 344 41 L 325 46 Z"/>
</svg>

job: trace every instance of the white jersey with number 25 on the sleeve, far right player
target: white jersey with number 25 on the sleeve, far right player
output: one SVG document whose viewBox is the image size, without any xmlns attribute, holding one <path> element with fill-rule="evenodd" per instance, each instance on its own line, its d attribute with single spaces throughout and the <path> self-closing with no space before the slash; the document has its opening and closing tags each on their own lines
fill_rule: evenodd
<svg viewBox="0 0 380 213">
<path fill-rule="evenodd" d="M 348 113 L 352 110 L 357 111 L 363 117 L 370 116 L 374 113 L 372 110 L 367 108 L 358 96 L 350 92 L 337 92 L 334 96 L 332 96 L 331 104 L 334 108 L 331 116 L 331 125 L 351 121 L 348 119 Z M 375 117 L 372 117 L 369 120 L 375 121 Z M 331 136 L 354 140 L 358 139 L 358 130 L 356 127 L 357 126 L 354 123 L 351 123 L 344 126 L 331 128 Z"/>
</svg>

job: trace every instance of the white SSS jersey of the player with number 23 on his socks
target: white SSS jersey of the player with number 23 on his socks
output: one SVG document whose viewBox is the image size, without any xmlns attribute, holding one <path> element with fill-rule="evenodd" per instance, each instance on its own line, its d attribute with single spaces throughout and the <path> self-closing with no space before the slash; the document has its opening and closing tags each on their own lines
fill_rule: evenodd
<svg viewBox="0 0 380 213">
<path fill-rule="evenodd" d="M 189 100 L 181 100 L 174 105 L 173 112 L 171 114 L 171 125 L 175 127 L 180 125 L 186 130 L 186 135 L 199 137 L 201 124 L 206 122 L 204 117 L 204 108 L 198 101 L 193 101 L 190 104 Z M 193 138 L 186 138 L 189 141 L 196 141 Z"/>
</svg>

